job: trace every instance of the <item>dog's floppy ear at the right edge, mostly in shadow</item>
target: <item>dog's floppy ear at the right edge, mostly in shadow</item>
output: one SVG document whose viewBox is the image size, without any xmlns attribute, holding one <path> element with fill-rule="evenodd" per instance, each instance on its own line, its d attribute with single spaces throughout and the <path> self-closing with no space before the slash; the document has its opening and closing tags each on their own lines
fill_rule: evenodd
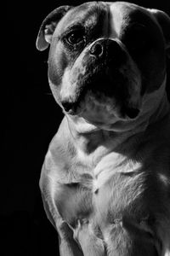
<svg viewBox="0 0 170 256">
<path fill-rule="evenodd" d="M 154 15 L 159 26 L 161 26 L 161 31 L 165 38 L 166 49 L 170 49 L 170 17 L 163 11 L 159 9 L 149 9 L 151 14 Z"/>
</svg>

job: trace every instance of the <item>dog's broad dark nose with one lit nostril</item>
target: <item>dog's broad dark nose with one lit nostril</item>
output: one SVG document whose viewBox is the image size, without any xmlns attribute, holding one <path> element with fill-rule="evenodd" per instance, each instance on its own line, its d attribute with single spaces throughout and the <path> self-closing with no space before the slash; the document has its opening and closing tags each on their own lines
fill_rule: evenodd
<svg viewBox="0 0 170 256">
<path fill-rule="evenodd" d="M 106 61 L 123 62 L 126 60 L 126 52 L 113 39 L 99 39 L 91 46 L 89 51 L 91 55 L 100 59 L 103 58 Z"/>
</svg>

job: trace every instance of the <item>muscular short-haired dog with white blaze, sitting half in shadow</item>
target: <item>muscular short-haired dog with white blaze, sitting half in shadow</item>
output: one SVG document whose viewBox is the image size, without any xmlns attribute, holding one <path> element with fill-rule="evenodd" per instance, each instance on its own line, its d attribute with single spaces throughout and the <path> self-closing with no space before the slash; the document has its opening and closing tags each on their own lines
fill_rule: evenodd
<svg viewBox="0 0 170 256">
<path fill-rule="evenodd" d="M 170 255 L 170 17 L 126 2 L 54 9 L 37 49 L 65 113 L 40 188 L 61 256 Z"/>
</svg>

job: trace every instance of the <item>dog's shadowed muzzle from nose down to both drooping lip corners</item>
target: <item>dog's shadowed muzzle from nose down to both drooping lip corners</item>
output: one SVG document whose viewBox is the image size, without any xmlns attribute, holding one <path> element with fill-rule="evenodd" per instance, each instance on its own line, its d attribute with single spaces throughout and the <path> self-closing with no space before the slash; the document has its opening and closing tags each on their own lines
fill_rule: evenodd
<svg viewBox="0 0 170 256">
<path fill-rule="evenodd" d="M 65 112 L 77 113 L 77 108 L 90 92 L 95 101 L 104 104 L 106 98 L 113 99 L 115 106 L 121 106 L 122 115 L 126 112 L 129 118 L 136 118 L 139 109 L 127 103 L 130 98 L 129 86 L 132 86 L 128 78 L 132 73 L 132 70 L 127 70 L 128 61 L 127 51 L 116 40 L 100 38 L 88 46 L 81 61 L 71 71 L 73 84 L 77 84 L 76 96 L 73 99 L 71 96 L 61 98 Z M 85 72 L 81 73 L 79 67 Z"/>
</svg>

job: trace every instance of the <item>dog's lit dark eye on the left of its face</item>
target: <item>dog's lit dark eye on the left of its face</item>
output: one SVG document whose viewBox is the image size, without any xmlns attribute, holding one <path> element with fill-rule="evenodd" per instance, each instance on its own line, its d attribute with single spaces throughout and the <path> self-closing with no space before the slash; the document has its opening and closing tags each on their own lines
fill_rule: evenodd
<svg viewBox="0 0 170 256">
<path fill-rule="evenodd" d="M 77 29 L 75 31 L 69 32 L 65 38 L 69 44 L 79 44 L 84 41 L 84 31 Z"/>
</svg>

